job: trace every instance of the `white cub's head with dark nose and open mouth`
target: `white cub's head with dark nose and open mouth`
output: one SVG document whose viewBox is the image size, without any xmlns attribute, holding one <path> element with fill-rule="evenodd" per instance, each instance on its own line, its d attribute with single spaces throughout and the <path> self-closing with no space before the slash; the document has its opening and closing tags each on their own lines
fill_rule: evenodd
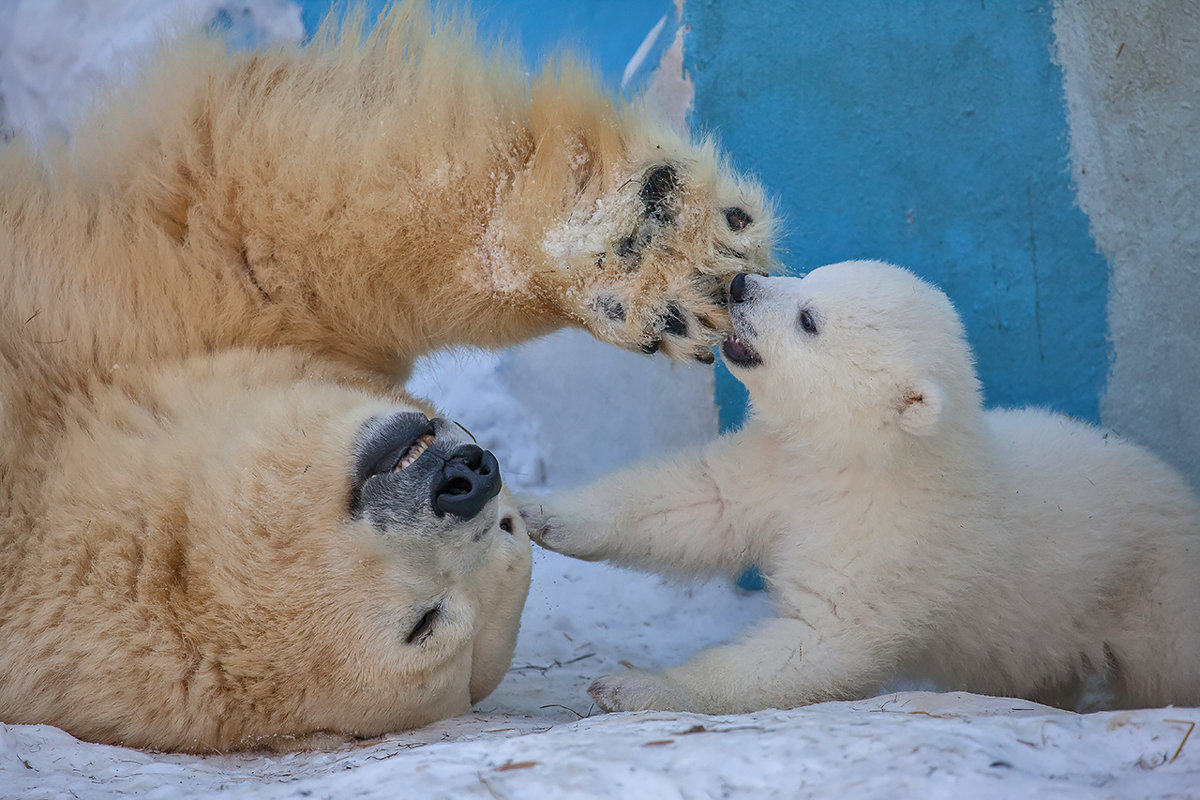
<svg viewBox="0 0 1200 800">
<path fill-rule="evenodd" d="M 804 278 L 738 276 L 721 350 L 760 419 L 797 435 L 936 434 L 979 405 L 962 324 L 946 295 L 880 261 Z"/>
</svg>

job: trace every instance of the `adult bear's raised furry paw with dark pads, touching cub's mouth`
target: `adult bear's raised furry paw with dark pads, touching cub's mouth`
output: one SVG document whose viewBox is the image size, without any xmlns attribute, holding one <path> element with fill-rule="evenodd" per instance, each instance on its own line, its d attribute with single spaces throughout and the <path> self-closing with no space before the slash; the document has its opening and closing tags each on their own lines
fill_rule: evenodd
<svg viewBox="0 0 1200 800">
<path fill-rule="evenodd" d="M 545 249 L 563 313 L 596 338 L 712 363 L 730 330 L 730 283 L 770 270 L 774 227 L 757 187 L 665 161 L 576 209 Z"/>
</svg>

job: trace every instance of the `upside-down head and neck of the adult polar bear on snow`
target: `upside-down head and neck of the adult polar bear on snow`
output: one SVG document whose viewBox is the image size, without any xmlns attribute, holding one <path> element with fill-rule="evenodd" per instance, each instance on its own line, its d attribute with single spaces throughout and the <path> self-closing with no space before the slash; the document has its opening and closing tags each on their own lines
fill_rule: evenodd
<svg viewBox="0 0 1200 800">
<path fill-rule="evenodd" d="M 60 425 L 22 633 L 0 631 L 6 721 L 302 746 L 464 712 L 508 669 L 529 539 L 452 422 L 244 351 L 122 365 Z"/>
</svg>

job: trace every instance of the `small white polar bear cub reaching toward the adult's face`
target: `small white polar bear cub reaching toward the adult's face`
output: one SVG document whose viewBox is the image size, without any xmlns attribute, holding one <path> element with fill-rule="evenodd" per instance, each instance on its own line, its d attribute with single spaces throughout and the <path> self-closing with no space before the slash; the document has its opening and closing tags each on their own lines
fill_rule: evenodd
<svg viewBox="0 0 1200 800">
<path fill-rule="evenodd" d="M 526 510 L 576 558 L 757 564 L 779 615 L 596 680 L 601 708 L 791 708 L 898 675 L 1066 706 L 1102 678 L 1104 704 L 1200 704 L 1200 504 L 1178 475 L 1062 415 L 983 410 L 958 314 L 902 269 L 739 276 L 731 300 L 745 427 Z"/>
</svg>

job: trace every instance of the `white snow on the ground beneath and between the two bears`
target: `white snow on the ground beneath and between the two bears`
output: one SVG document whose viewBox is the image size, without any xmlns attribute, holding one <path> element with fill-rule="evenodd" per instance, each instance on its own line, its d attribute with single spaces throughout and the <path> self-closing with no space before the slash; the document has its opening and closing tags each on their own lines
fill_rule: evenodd
<svg viewBox="0 0 1200 800">
<path fill-rule="evenodd" d="M 502 362 L 445 356 L 409 385 L 538 487 L 536 428 Z M 592 679 L 622 662 L 666 667 L 768 613 L 762 593 L 724 582 L 536 552 L 512 667 L 468 716 L 284 756 L 150 753 L 0 724 L 0 798 L 1200 798 L 1200 709 L 1076 715 L 901 692 L 714 717 L 604 715 L 588 699 Z"/>
</svg>

